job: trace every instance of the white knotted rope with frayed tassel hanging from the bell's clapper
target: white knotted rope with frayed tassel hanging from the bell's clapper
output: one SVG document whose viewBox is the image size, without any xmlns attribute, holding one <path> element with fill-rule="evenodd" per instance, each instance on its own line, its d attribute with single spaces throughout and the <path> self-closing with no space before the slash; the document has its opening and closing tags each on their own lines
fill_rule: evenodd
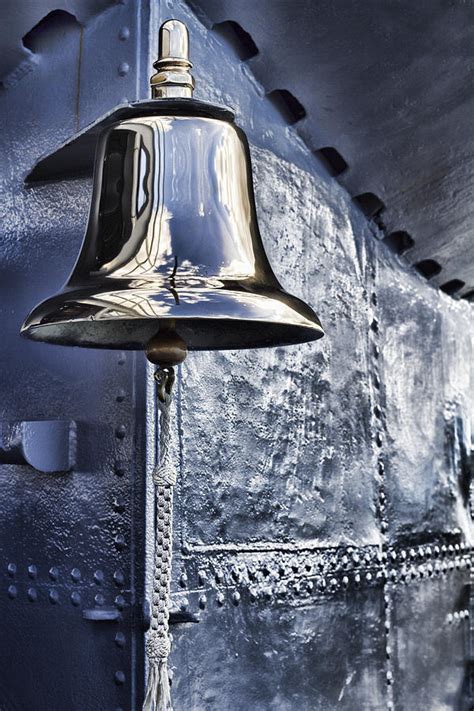
<svg viewBox="0 0 474 711">
<path fill-rule="evenodd" d="M 155 380 L 158 383 L 157 403 L 160 410 L 160 451 L 152 474 L 156 501 L 155 567 L 151 594 L 151 629 L 145 645 L 149 672 L 143 711 L 172 711 L 168 655 L 171 649 L 169 598 L 173 546 L 173 487 L 176 484 L 170 447 L 173 368 L 159 368 L 155 373 Z"/>
</svg>

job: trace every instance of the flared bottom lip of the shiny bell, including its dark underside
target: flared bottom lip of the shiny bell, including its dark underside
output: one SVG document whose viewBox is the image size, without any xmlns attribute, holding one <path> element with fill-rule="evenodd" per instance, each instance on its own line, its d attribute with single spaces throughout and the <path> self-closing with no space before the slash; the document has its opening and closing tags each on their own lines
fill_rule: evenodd
<svg viewBox="0 0 474 711">
<path fill-rule="evenodd" d="M 282 290 L 209 288 L 64 292 L 37 306 L 21 334 L 65 346 L 142 350 L 173 322 L 191 351 L 286 346 L 324 335 L 316 314 Z"/>
</svg>

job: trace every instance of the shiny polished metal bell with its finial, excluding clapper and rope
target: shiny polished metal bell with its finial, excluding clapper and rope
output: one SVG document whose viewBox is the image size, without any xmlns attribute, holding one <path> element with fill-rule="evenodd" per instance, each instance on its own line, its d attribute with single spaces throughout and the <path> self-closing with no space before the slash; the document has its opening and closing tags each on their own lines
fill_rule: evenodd
<svg viewBox="0 0 474 711">
<path fill-rule="evenodd" d="M 266 257 L 244 133 L 228 109 L 192 98 L 186 27 L 171 20 L 160 40 L 153 100 L 99 138 L 69 281 L 22 333 L 120 349 L 142 349 L 170 328 L 189 350 L 320 338 L 317 316 L 282 289 Z"/>
</svg>

